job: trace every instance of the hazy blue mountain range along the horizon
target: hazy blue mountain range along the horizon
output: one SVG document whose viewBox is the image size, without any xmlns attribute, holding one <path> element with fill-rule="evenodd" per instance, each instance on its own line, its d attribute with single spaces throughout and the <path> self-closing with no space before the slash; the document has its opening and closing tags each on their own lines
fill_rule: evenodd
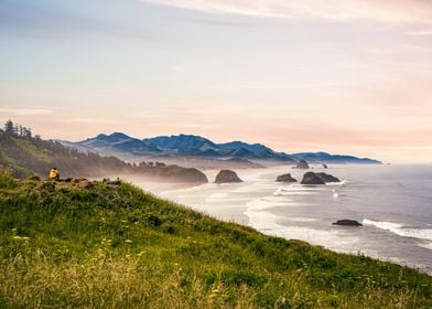
<svg viewBox="0 0 432 309">
<path fill-rule="evenodd" d="M 288 154 L 277 152 L 261 143 L 231 141 L 215 143 L 194 135 L 160 136 L 138 139 L 121 132 L 98 135 L 75 143 L 77 147 L 91 149 L 104 154 L 170 156 L 208 159 L 249 159 L 295 162 L 301 159 L 311 162 L 328 163 L 379 163 L 368 158 L 330 154 L 326 152 L 304 152 Z"/>
</svg>

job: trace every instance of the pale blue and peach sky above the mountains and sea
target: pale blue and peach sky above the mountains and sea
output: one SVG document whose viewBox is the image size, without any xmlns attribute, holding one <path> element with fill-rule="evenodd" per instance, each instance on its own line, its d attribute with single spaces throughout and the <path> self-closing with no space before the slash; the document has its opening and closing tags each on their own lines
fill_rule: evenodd
<svg viewBox="0 0 432 309">
<path fill-rule="evenodd" d="M 0 121 L 432 163 L 430 0 L 0 0 Z"/>
</svg>

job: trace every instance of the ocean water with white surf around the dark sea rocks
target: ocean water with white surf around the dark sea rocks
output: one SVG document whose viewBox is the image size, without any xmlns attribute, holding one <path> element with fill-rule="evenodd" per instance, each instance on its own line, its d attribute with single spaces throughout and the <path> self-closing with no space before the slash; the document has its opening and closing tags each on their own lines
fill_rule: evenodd
<svg viewBox="0 0 432 309">
<path fill-rule="evenodd" d="M 315 167 L 342 180 L 306 187 L 274 182 L 290 167 L 238 170 L 236 184 L 208 183 L 156 192 L 215 217 L 268 235 L 303 239 L 326 248 L 365 254 L 432 274 L 432 166 Z M 217 171 L 208 171 L 213 180 Z M 364 226 L 335 226 L 342 219 Z"/>
</svg>

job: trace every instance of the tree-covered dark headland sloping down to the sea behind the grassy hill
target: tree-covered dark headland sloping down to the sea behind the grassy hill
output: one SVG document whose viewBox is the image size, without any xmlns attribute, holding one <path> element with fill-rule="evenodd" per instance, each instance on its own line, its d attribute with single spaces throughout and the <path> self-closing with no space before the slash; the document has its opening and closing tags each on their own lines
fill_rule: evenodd
<svg viewBox="0 0 432 309">
<path fill-rule="evenodd" d="M 17 178 L 33 174 L 46 178 L 50 169 L 56 167 L 62 178 L 132 173 L 175 182 L 207 182 L 205 174 L 196 169 L 163 163 L 137 166 L 115 157 L 101 157 L 94 152 L 83 153 L 57 141 L 33 137 L 30 129 L 8 124 L 9 121 L 4 130 L 0 130 L 0 168 L 10 170 Z"/>
</svg>

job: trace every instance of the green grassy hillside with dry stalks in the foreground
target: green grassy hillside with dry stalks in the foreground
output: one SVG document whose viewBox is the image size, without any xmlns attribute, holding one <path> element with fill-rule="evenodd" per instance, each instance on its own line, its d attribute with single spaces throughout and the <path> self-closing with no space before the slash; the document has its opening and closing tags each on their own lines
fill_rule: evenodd
<svg viewBox="0 0 432 309">
<path fill-rule="evenodd" d="M 431 308 L 432 278 L 264 236 L 126 183 L 0 174 L 0 307 Z"/>
</svg>

